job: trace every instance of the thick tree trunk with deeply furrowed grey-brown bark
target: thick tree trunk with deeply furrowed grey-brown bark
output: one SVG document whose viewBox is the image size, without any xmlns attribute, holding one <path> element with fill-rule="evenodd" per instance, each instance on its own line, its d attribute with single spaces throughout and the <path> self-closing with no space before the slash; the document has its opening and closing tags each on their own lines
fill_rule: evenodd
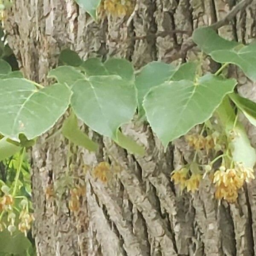
<svg viewBox="0 0 256 256">
<path fill-rule="evenodd" d="M 256 35 L 256 0 L 242 9 L 221 36 L 249 43 Z M 223 19 L 236 0 L 138 0 L 127 17 L 105 17 L 99 23 L 74 0 L 16 0 L 5 28 L 8 41 L 27 78 L 47 84 L 61 49 L 81 58 L 125 57 L 136 68 L 153 61 L 195 60 L 186 42 L 198 26 Z M 178 53 L 178 54 L 177 54 Z M 180 58 L 179 58 L 180 57 Z M 256 85 L 233 69 L 239 92 L 256 100 Z M 194 195 L 179 195 L 172 170 L 190 152 L 183 140 L 163 146 L 148 125 L 131 122 L 122 129 L 146 148 L 143 157 L 128 154 L 108 138 L 89 131 L 99 151 L 69 145 L 58 131 L 61 120 L 38 139 L 32 150 L 32 186 L 38 256 L 251 256 L 256 252 L 256 180 L 244 187 L 237 204 L 218 203 L 206 178 Z M 252 144 L 256 129 L 245 123 Z M 85 128 L 86 129 L 86 128 Z M 52 135 L 52 136 L 51 136 Z M 85 166 L 117 161 L 121 172 L 107 184 L 95 180 Z M 70 212 L 71 182 L 85 180 L 79 211 Z M 55 195 L 51 196 L 52 188 Z"/>
</svg>

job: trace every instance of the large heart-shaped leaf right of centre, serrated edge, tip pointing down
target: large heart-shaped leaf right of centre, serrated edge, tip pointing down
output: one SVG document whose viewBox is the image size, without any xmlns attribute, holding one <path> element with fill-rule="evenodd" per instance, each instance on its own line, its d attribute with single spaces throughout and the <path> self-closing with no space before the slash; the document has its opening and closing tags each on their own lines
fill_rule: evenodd
<svg viewBox="0 0 256 256">
<path fill-rule="evenodd" d="M 201 77 L 198 84 L 187 80 L 165 82 L 145 96 L 143 106 L 148 122 L 166 147 L 209 119 L 235 86 L 235 79 L 221 79 L 212 74 Z"/>
</svg>

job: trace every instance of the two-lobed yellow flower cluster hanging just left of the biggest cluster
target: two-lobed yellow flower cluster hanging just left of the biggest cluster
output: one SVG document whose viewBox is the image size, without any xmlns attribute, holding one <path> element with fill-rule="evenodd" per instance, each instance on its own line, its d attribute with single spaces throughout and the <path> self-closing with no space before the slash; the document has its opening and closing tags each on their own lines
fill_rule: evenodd
<svg viewBox="0 0 256 256">
<path fill-rule="evenodd" d="M 200 173 L 195 172 L 189 175 L 189 169 L 186 167 L 172 173 L 172 180 L 176 185 L 180 186 L 181 191 L 186 187 L 188 192 L 195 193 L 198 190 L 201 179 L 202 175 Z"/>
</svg>

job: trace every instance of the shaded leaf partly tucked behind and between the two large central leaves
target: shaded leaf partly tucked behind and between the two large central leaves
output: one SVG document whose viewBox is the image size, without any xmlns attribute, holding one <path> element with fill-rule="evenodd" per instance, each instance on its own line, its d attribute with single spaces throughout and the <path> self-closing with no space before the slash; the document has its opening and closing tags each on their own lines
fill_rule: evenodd
<svg viewBox="0 0 256 256">
<path fill-rule="evenodd" d="M 139 112 L 143 111 L 142 102 L 148 91 L 157 85 L 171 79 L 176 68 L 173 65 L 153 61 L 145 65 L 135 78 L 138 90 Z"/>
</svg>

